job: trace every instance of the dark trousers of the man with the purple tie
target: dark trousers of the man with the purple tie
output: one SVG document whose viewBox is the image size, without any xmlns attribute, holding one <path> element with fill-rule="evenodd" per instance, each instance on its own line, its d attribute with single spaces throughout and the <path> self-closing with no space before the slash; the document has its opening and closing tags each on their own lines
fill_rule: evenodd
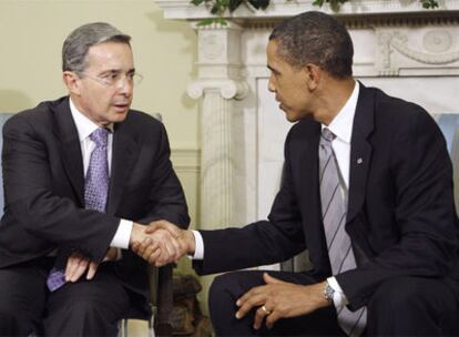
<svg viewBox="0 0 459 337">
<path fill-rule="evenodd" d="M 0 269 L 0 336 L 116 336 L 131 299 L 111 263 L 90 282 L 82 276 L 50 293 L 52 265 L 44 258 Z"/>
</svg>

